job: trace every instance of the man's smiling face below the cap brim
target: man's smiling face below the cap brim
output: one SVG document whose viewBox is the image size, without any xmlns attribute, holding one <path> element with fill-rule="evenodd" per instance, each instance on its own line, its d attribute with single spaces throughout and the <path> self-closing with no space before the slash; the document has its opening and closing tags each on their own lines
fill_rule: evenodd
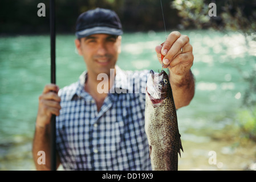
<svg viewBox="0 0 256 182">
<path fill-rule="evenodd" d="M 84 57 L 88 72 L 110 75 L 110 69 L 115 68 L 121 52 L 121 36 L 93 34 L 80 40 L 76 39 L 75 44 L 79 55 Z"/>
</svg>

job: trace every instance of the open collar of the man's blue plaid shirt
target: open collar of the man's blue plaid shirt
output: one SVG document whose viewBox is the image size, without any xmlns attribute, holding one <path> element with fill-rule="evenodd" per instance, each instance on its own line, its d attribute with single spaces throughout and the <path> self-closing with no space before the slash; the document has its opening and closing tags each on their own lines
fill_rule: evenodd
<svg viewBox="0 0 256 182">
<path fill-rule="evenodd" d="M 115 66 L 115 84 L 112 86 L 112 88 L 109 90 L 109 94 L 112 93 L 128 93 L 128 90 L 132 89 L 132 85 L 128 85 L 128 75 L 125 74 L 123 70 L 121 70 L 117 65 Z M 72 93 L 70 94 L 70 100 L 72 100 L 75 96 L 76 97 L 84 97 L 91 99 L 90 94 L 88 94 L 84 90 L 84 86 L 86 85 L 86 79 L 87 79 L 87 71 L 84 71 L 80 76 L 78 82 L 76 82 L 76 88 L 72 90 Z"/>
</svg>

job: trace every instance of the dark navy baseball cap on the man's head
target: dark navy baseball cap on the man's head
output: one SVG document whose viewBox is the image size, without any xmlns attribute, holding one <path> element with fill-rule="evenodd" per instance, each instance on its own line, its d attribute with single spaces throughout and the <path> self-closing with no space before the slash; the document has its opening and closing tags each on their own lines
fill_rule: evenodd
<svg viewBox="0 0 256 182">
<path fill-rule="evenodd" d="M 122 35 L 123 28 L 115 11 L 96 8 L 78 16 L 75 34 L 77 38 L 92 34 Z"/>
</svg>

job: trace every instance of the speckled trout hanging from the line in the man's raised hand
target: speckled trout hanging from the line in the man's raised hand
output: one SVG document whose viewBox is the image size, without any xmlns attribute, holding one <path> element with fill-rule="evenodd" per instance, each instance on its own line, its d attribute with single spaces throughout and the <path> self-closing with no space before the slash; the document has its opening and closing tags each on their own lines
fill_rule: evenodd
<svg viewBox="0 0 256 182">
<path fill-rule="evenodd" d="M 150 71 L 146 86 L 145 133 L 153 171 L 177 171 L 183 152 L 176 107 L 167 73 Z"/>
</svg>

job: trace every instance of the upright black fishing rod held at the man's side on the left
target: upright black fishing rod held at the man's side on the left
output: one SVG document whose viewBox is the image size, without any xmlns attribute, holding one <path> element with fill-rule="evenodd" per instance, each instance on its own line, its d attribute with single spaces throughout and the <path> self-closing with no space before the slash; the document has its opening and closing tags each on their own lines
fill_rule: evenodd
<svg viewBox="0 0 256 182">
<path fill-rule="evenodd" d="M 51 83 L 56 84 L 55 78 L 55 0 L 50 0 L 50 35 L 51 35 Z M 51 171 L 56 170 L 56 115 L 51 117 Z"/>
</svg>

